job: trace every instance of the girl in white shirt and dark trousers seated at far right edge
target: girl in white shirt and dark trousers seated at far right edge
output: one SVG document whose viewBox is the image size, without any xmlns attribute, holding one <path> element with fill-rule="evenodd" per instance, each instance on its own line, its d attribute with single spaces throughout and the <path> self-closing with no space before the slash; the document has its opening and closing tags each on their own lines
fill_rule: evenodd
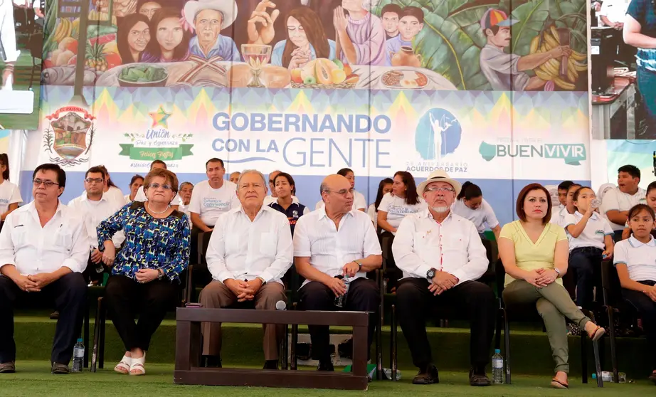
<svg viewBox="0 0 656 397">
<path fill-rule="evenodd" d="M 647 356 L 651 359 L 650 381 L 656 383 L 656 228 L 654 210 L 638 204 L 629 210 L 631 236 L 615 245 L 615 268 L 622 295 L 638 310 L 647 334 Z"/>
</svg>

